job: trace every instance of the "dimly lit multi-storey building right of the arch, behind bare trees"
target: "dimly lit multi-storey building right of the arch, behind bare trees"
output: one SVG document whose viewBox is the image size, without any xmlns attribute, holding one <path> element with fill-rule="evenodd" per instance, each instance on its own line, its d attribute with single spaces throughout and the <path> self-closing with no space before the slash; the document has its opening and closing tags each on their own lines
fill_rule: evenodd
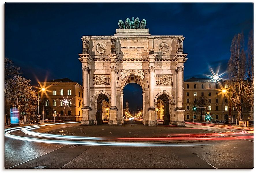
<svg viewBox="0 0 256 173">
<path fill-rule="evenodd" d="M 221 85 L 220 85 L 221 84 Z M 209 78 L 190 78 L 184 81 L 184 119 L 185 121 L 201 121 L 201 110 L 193 110 L 193 107 L 208 108 L 212 121 L 228 121 L 229 119 L 229 94 L 223 93 L 228 89 L 225 81 L 220 83 L 209 81 Z M 203 101 L 202 101 L 203 99 Z M 200 102 L 200 103 L 198 103 Z M 202 103 L 203 102 L 203 103 Z M 206 110 L 206 109 L 205 109 Z M 237 111 L 231 102 L 231 120 L 238 123 Z M 205 111 L 202 112 L 204 121 Z M 243 121 L 253 121 L 248 104 L 242 103 Z"/>
</svg>

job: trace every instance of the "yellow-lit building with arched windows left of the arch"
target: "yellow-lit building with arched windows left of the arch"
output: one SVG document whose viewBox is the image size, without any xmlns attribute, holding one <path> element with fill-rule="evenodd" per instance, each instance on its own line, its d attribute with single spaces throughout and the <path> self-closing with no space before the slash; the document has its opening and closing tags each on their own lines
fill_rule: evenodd
<svg viewBox="0 0 256 173">
<path fill-rule="evenodd" d="M 82 86 L 68 78 L 39 82 L 45 88 L 40 94 L 40 115 L 44 108 L 44 119 L 61 121 L 82 121 L 83 89 Z"/>
</svg>

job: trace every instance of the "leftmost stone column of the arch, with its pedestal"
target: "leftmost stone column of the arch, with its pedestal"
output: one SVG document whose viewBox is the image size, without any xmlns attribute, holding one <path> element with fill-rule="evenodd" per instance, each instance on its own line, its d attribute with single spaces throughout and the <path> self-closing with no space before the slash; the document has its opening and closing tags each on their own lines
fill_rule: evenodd
<svg viewBox="0 0 256 173">
<path fill-rule="evenodd" d="M 82 108 L 82 123 L 81 125 L 91 125 L 89 122 L 89 111 L 91 110 L 90 103 L 88 102 L 89 97 L 89 81 L 88 74 L 91 72 L 90 67 L 82 66 L 83 69 L 83 102 L 84 107 Z"/>
</svg>

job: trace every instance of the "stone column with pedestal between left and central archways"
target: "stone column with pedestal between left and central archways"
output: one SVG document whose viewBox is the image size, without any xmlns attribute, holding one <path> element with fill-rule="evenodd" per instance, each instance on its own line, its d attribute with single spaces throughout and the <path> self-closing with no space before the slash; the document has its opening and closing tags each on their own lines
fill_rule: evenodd
<svg viewBox="0 0 256 173">
<path fill-rule="evenodd" d="M 110 66 L 111 69 L 111 107 L 109 108 L 109 125 L 118 125 L 117 107 L 116 107 L 116 66 Z"/>
</svg>

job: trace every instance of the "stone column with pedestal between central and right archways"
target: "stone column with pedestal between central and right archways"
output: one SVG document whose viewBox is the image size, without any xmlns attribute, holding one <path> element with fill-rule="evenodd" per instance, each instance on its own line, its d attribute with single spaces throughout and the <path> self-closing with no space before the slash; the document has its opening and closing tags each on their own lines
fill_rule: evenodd
<svg viewBox="0 0 256 173">
<path fill-rule="evenodd" d="M 156 110 L 154 107 L 154 87 L 155 87 L 155 77 L 154 77 L 154 69 L 155 67 L 150 66 L 148 68 L 149 71 L 149 117 L 148 117 L 148 125 L 149 126 L 156 126 L 157 121 L 156 121 Z"/>
</svg>

